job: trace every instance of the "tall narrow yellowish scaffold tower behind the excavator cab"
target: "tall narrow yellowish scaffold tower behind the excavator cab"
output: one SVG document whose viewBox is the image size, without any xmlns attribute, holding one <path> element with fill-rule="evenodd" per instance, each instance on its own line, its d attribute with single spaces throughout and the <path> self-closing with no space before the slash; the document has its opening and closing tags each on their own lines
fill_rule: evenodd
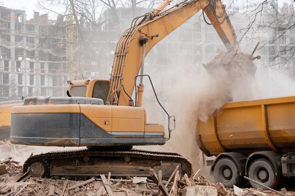
<svg viewBox="0 0 295 196">
<path fill-rule="evenodd" d="M 79 58 L 78 58 L 78 28 L 75 24 L 74 17 L 68 17 L 65 21 L 66 25 L 66 70 L 70 79 L 76 78 L 78 75 Z"/>
</svg>

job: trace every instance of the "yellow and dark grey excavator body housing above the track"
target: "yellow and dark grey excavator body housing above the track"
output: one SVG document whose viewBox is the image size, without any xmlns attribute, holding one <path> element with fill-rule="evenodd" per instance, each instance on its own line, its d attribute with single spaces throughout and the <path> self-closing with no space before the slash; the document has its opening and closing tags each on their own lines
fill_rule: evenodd
<svg viewBox="0 0 295 196">
<path fill-rule="evenodd" d="M 148 124 L 142 107 L 100 98 L 30 97 L 11 111 L 13 144 L 58 147 L 164 145 L 165 129 Z"/>
</svg>

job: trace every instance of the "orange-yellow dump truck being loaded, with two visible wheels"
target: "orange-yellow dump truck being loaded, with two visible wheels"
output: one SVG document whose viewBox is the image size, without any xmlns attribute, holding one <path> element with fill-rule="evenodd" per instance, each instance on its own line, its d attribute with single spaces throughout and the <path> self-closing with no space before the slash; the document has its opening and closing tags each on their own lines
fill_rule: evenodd
<svg viewBox="0 0 295 196">
<path fill-rule="evenodd" d="M 197 142 L 216 182 L 243 186 L 243 176 L 276 188 L 295 176 L 295 97 L 231 102 L 198 122 Z M 254 188 L 264 188 L 250 182 Z"/>
</svg>

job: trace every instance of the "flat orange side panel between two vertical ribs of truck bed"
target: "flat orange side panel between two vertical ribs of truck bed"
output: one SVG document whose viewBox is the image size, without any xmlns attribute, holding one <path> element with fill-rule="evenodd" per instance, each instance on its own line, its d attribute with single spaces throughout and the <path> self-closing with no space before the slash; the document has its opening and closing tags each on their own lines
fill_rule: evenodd
<svg viewBox="0 0 295 196">
<path fill-rule="evenodd" d="M 224 109 L 216 120 L 218 138 L 225 148 L 268 147 L 261 105 Z M 253 143 L 255 146 L 249 146 Z"/>
</svg>

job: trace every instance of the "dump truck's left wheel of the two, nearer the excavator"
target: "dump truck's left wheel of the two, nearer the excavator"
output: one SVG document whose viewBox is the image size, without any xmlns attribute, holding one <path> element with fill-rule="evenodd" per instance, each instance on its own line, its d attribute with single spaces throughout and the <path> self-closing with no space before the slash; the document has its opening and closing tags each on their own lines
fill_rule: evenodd
<svg viewBox="0 0 295 196">
<path fill-rule="evenodd" d="M 239 176 L 238 168 L 231 158 L 221 158 L 214 167 L 214 178 L 216 182 L 221 182 L 225 187 L 233 188 L 234 185 L 240 187 L 243 180 Z"/>
</svg>

